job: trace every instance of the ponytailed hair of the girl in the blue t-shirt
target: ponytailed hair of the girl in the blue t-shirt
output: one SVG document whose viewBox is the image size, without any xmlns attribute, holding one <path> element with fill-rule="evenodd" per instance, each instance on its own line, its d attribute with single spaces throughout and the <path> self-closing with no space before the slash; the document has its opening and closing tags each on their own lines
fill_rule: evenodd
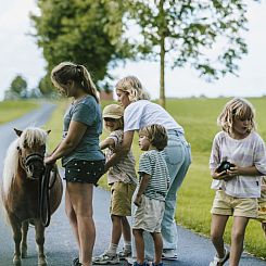
<svg viewBox="0 0 266 266">
<path fill-rule="evenodd" d="M 51 72 L 52 84 L 64 90 L 63 85 L 73 80 L 76 86 L 80 87 L 92 96 L 99 102 L 98 91 L 91 76 L 84 65 L 77 65 L 72 62 L 62 62 Z"/>
</svg>

